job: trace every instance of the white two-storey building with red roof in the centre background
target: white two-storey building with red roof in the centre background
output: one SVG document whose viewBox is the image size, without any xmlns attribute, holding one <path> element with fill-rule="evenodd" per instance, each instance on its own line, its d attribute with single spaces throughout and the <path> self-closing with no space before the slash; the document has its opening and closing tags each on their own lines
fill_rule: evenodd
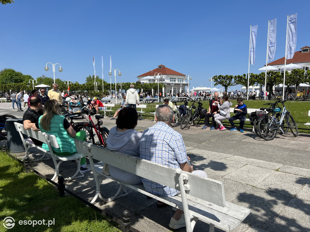
<svg viewBox="0 0 310 232">
<path fill-rule="evenodd" d="M 157 79 L 157 73 L 159 73 L 159 79 Z M 154 75 L 156 75 L 156 78 L 154 78 Z M 167 68 L 163 64 L 158 65 L 158 68 L 156 69 L 137 76 L 137 78 L 139 81 L 141 81 L 141 83 L 157 83 L 157 81 L 159 81 L 159 83 L 165 84 L 166 90 L 165 88 L 159 90 L 160 92 L 164 93 L 164 96 L 167 96 L 167 94 L 170 93 L 173 94 L 177 92 L 187 92 L 185 89 L 187 89 L 188 87 L 188 80 L 185 80 L 185 75 L 170 68 Z M 156 92 L 157 91 L 158 90 L 156 90 Z"/>
</svg>

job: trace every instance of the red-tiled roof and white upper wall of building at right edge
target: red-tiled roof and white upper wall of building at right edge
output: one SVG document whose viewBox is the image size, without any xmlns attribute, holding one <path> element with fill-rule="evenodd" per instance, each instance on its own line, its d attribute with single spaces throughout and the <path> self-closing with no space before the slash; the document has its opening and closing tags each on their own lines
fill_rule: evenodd
<svg viewBox="0 0 310 232">
<path fill-rule="evenodd" d="M 294 53 L 294 57 L 292 59 L 286 60 L 286 65 L 288 64 L 296 64 L 303 68 L 303 70 L 307 71 L 310 69 L 310 47 L 304 46 L 300 48 L 300 51 Z M 279 70 L 283 71 L 282 66 L 284 66 L 284 58 L 277 59 L 268 63 L 268 65 L 278 68 Z M 290 71 L 290 70 L 288 70 Z"/>
</svg>

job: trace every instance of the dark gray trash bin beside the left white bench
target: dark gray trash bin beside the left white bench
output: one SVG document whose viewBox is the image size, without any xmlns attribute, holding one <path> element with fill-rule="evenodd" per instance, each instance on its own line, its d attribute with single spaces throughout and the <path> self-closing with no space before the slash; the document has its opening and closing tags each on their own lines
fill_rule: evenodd
<svg viewBox="0 0 310 232">
<path fill-rule="evenodd" d="M 25 152 L 23 141 L 20 138 L 19 132 L 16 130 L 14 122 L 23 124 L 22 118 L 9 118 L 6 120 L 7 124 L 7 149 L 10 153 Z M 25 137 L 27 138 L 27 137 Z"/>
</svg>

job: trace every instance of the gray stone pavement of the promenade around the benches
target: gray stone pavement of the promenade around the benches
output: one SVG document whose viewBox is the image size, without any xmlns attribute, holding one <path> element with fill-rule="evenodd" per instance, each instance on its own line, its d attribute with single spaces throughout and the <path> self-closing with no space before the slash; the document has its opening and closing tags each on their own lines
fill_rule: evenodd
<svg viewBox="0 0 310 232">
<path fill-rule="evenodd" d="M 10 103 L 0 103 L 0 115 L 15 112 Z M 136 129 L 154 125 L 151 120 L 138 121 Z M 111 129 L 115 120 L 103 119 L 103 126 Z M 188 156 L 194 170 L 204 170 L 209 178 L 224 183 L 227 201 L 250 208 L 250 215 L 233 231 L 310 231 L 310 135 L 291 133 L 277 135 L 274 140 L 265 141 L 251 131 L 210 131 L 193 125 L 181 130 Z M 3 144 L 0 143 L 0 145 Z M 30 148 L 33 156 L 38 150 Z M 17 153 L 22 157 L 24 153 Z M 51 178 L 51 160 L 34 162 L 33 167 Z M 60 174 L 74 173 L 73 162 L 60 166 Z M 105 179 L 101 185 L 104 197 L 114 195 L 118 184 Z M 84 199 L 91 201 L 95 195 L 95 182 L 91 172 L 84 178 L 65 183 L 67 188 Z M 126 189 L 128 195 L 99 206 L 107 213 L 121 218 L 122 212 L 131 212 L 132 226 L 140 231 L 170 231 L 169 221 L 173 215 L 171 207 L 156 207 L 156 200 Z M 194 231 L 207 231 L 208 223 L 199 220 Z M 176 231 L 185 231 L 181 228 Z M 222 231 L 215 228 L 215 231 Z"/>
</svg>

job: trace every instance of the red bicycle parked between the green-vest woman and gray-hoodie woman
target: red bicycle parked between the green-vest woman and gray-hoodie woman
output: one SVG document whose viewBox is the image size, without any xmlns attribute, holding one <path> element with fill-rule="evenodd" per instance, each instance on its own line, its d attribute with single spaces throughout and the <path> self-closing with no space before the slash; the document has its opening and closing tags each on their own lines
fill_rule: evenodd
<svg viewBox="0 0 310 232">
<path fill-rule="evenodd" d="M 82 113 L 85 113 L 84 110 L 86 109 L 86 106 L 82 109 Z M 73 129 L 78 132 L 81 130 L 84 130 L 86 132 L 86 142 L 91 141 L 92 144 L 100 145 L 102 147 L 107 147 L 107 137 L 109 134 L 109 130 L 106 127 L 100 127 L 103 122 L 100 120 L 101 118 L 104 118 L 104 115 L 95 115 L 95 119 L 97 120 L 97 123 L 95 124 L 93 120 L 91 119 L 91 110 L 88 110 L 88 122 L 73 122 L 73 118 L 78 117 L 79 115 L 70 115 L 68 118 L 71 119 L 70 124 L 73 127 Z M 95 133 L 93 132 L 95 131 Z M 95 136 L 98 137 L 98 142 L 95 142 Z"/>
</svg>

